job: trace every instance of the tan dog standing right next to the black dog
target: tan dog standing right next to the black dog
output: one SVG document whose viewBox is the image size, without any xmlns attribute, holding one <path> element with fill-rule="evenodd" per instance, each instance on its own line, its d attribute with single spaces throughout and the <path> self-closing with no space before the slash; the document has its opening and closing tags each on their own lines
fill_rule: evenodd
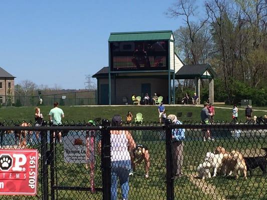
<svg viewBox="0 0 267 200">
<path fill-rule="evenodd" d="M 238 151 L 231 151 L 230 154 L 223 156 L 222 160 L 224 166 L 224 173 L 231 175 L 231 171 L 235 172 L 235 178 L 238 179 L 240 170 L 244 173 L 244 178 L 247 179 L 247 168 L 242 153 Z"/>
</svg>

